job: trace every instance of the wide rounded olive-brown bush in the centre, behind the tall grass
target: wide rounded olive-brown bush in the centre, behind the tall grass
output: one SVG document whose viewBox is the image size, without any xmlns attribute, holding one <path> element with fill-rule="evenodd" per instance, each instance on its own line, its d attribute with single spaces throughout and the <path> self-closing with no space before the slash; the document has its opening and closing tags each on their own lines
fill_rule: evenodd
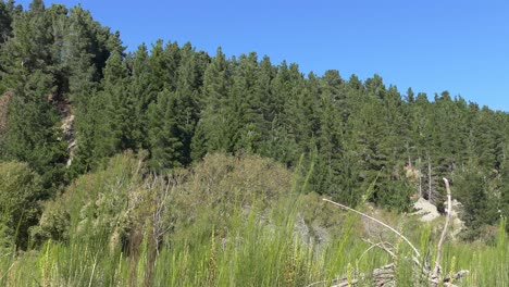
<svg viewBox="0 0 509 287">
<path fill-rule="evenodd" d="M 173 241 L 209 240 L 212 229 L 224 236 L 235 214 L 257 209 L 266 216 L 281 199 L 289 198 L 291 173 L 258 155 L 209 154 L 177 183 L 167 197 L 165 225 Z M 201 238 L 201 239 L 200 239 Z"/>
</svg>

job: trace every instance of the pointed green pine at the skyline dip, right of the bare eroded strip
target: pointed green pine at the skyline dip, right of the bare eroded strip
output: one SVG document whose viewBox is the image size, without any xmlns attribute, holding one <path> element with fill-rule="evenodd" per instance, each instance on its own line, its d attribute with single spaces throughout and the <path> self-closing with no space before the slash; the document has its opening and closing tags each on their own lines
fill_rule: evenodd
<svg viewBox="0 0 509 287">
<path fill-rule="evenodd" d="M 128 91 L 128 70 L 119 50 L 108 59 L 103 74 L 97 88 L 92 85 L 80 91 L 74 174 L 94 169 L 116 152 L 136 148 L 134 100 Z"/>
</svg>

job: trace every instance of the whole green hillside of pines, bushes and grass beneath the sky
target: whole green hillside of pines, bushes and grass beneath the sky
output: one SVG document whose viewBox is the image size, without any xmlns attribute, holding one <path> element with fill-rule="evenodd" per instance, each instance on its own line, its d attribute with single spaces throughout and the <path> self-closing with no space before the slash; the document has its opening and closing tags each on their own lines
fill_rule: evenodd
<svg viewBox="0 0 509 287">
<path fill-rule="evenodd" d="M 331 68 L 0 1 L 0 285 L 364 286 L 392 262 L 430 286 L 438 258 L 442 283 L 506 286 L 509 114 Z M 443 177 L 465 228 L 440 258 L 447 224 L 410 213 L 445 212 Z"/>
</svg>

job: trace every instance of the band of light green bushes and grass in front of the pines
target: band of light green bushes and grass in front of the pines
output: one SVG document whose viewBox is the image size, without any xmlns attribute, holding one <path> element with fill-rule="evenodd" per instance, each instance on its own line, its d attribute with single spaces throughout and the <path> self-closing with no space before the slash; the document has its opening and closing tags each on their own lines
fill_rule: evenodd
<svg viewBox="0 0 509 287">
<path fill-rule="evenodd" d="M 146 174 L 133 154 L 119 155 L 47 204 L 30 249 L 0 241 L 0 285 L 330 286 L 345 276 L 371 286 L 361 274 L 388 263 L 397 285 L 426 285 L 408 245 L 301 192 L 306 178 L 249 155 L 210 155 L 163 177 Z M 433 262 L 438 238 L 430 225 L 378 215 Z M 455 284 L 509 286 L 504 224 L 492 245 L 444 246 L 443 274 L 469 270 Z M 363 238 L 390 242 L 396 259 L 381 249 L 367 252 Z"/>
</svg>

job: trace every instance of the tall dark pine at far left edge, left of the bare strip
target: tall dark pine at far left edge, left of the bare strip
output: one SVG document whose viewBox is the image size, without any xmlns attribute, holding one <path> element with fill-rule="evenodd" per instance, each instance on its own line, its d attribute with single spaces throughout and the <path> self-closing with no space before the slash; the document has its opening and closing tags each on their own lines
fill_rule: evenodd
<svg viewBox="0 0 509 287">
<path fill-rule="evenodd" d="M 46 189 L 63 179 L 65 142 L 59 128 L 59 113 L 52 99 L 61 97 L 55 35 L 51 15 L 41 1 L 21 13 L 13 25 L 13 37 L 2 46 L 2 80 L 13 90 L 9 129 L 4 141 L 8 158 L 26 161 L 42 177 Z M 58 39 L 58 37 L 57 37 Z"/>
</svg>

